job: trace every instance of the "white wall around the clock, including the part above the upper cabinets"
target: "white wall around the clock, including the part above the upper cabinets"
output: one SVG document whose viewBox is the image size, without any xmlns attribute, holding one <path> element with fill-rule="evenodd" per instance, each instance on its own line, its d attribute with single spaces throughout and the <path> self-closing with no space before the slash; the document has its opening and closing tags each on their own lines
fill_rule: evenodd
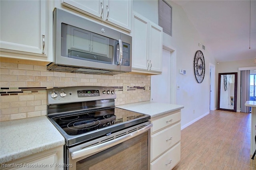
<svg viewBox="0 0 256 170">
<path fill-rule="evenodd" d="M 184 106 L 181 117 L 183 129 L 209 113 L 209 68 L 210 63 L 215 65 L 216 61 L 182 8 L 172 1 L 168 3 L 172 6 L 172 37 L 164 33 L 163 45 L 176 49 L 176 82 L 180 86 L 176 90 L 176 104 Z M 135 0 L 133 10 L 158 23 L 157 0 Z M 206 50 L 199 47 L 198 43 L 202 43 Z M 200 84 L 196 82 L 193 66 L 197 50 L 204 53 L 206 63 L 204 81 Z M 179 69 L 186 70 L 186 75 L 179 74 Z"/>
</svg>

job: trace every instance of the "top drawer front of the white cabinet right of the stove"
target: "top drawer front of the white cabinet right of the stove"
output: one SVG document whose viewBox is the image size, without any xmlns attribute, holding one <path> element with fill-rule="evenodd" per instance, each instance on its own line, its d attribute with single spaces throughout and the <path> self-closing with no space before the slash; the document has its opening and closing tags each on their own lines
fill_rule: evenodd
<svg viewBox="0 0 256 170">
<path fill-rule="evenodd" d="M 152 121 L 153 127 L 151 133 L 158 131 L 159 129 L 162 129 L 164 127 L 167 127 L 177 121 L 180 121 L 180 115 L 181 112 L 174 113 L 172 115 L 168 115 L 166 117 L 162 117 L 160 119 Z"/>
</svg>

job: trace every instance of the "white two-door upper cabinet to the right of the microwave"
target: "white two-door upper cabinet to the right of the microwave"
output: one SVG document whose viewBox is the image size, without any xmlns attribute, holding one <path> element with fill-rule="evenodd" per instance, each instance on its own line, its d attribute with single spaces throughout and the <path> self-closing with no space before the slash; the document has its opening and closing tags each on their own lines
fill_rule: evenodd
<svg viewBox="0 0 256 170">
<path fill-rule="evenodd" d="M 135 12 L 132 27 L 132 72 L 162 72 L 162 27 Z"/>
</svg>

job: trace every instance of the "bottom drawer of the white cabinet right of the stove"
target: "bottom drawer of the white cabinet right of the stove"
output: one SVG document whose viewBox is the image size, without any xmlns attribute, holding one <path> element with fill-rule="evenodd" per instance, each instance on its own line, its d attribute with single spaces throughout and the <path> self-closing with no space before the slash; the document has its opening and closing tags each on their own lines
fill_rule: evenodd
<svg viewBox="0 0 256 170">
<path fill-rule="evenodd" d="M 180 162 L 180 143 L 150 164 L 151 170 L 171 170 Z"/>
</svg>

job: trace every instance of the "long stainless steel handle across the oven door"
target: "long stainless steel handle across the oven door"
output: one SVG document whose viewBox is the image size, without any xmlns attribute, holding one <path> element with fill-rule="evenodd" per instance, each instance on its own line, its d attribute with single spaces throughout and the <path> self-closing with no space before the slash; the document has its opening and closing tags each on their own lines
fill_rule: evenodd
<svg viewBox="0 0 256 170">
<path fill-rule="evenodd" d="M 117 139 L 99 144 L 99 145 L 95 145 L 93 147 L 88 147 L 82 150 L 77 150 L 77 151 L 70 151 L 71 157 L 72 159 L 76 159 L 76 158 L 80 158 L 80 157 L 84 157 L 87 158 L 89 156 L 92 156 L 93 154 L 96 154 L 102 150 L 108 149 L 110 147 L 113 147 L 115 145 L 118 145 L 119 143 L 122 143 L 124 141 L 127 141 L 128 139 L 131 139 L 133 137 L 136 137 L 146 131 L 148 131 L 148 129 L 150 129 L 153 126 L 153 124 L 149 124 L 146 127 L 143 127 L 142 129 L 139 129 L 138 131 L 129 133 L 128 135 L 124 135 L 122 137 L 119 137 Z"/>
</svg>

